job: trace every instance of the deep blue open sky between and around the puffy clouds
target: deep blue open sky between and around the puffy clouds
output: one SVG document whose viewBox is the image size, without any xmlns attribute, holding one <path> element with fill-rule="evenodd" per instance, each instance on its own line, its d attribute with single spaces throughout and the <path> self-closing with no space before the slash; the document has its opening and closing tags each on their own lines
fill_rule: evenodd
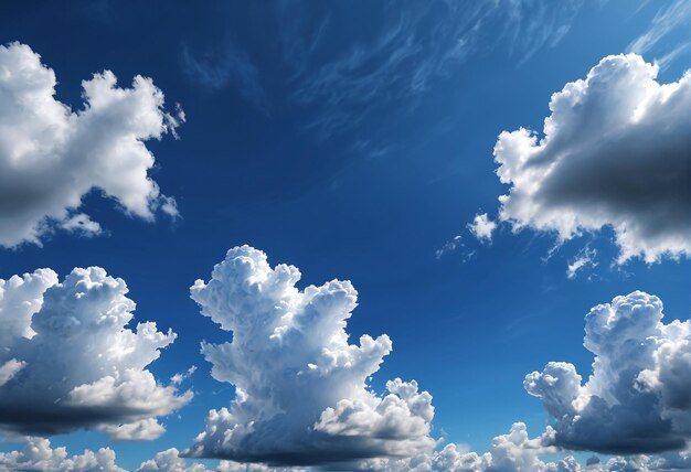
<svg viewBox="0 0 691 472">
<path fill-rule="evenodd" d="M 688 318 L 688 260 L 613 268 L 616 247 L 604 232 L 544 261 L 551 236 L 501 226 L 481 245 L 466 229 L 476 213 L 495 215 L 506 191 L 493 172 L 497 136 L 541 129 L 551 94 L 626 51 L 657 6 L 586 2 L 550 13 L 552 29 L 532 11 L 512 25 L 489 15 L 460 57 L 451 50 L 471 4 L 453 14 L 443 4 L 369 1 L 2 7 L 0 43 L 41 54 L 63 103 L 79 108 L 81 81 L 110 69 L 123 86 L 136 74 L 152 77 L 187 115 L 179 140 L 148 143 L 153 178 L 177 199 L 180 221 L 128 217 L 94 192 L 84 208 L 107 236 L 56 233 L 43 247 L 0 250 L 2 278 L 91 265 L 124 278 L 137 319 L 179 333 L 152 371 L 166 378 L 198 365 L 198 395 L 182 418 L 168 418 L 156 441 L 110 444 L 119 463 L 189 446 L 206 410 L 232 398 L 199 354 L 201 340 L 224 336 L 188 289 L 236 245 L 299 267 L 302 286 L 351 280 L 360 293 L 351 334 L 387 333 L 394 342 L 374 386 L 415 378 L 434 396 L 435 431 L 477 450 L 518 420 L 543 430 L 546 415 L 524 393 L 523 376 L 557 360 L 588 372 L 582 341 L 591 307 L 642 289 L 665 301 L 669 319 Z M 570 26 L 561 37 L 559 25 Z M 663 56 L 665 46 L 646 60 Z M 357 51 L 370 56 L 350 69 Z M 391 60 L 403 51 L 410 56 Z M 661 82 L 676 81 L 690 58 L 679 56 Z M 338 62 L 346 78 L 329 82 L 325 64 Z M 456 235 L 466 246 L 437 258 Z M 567 279 L 567 261 L 588 240 L 600 265 Z M 54 439 L 73 452 L 106 442 L 97 433 Z"/>
</svg>

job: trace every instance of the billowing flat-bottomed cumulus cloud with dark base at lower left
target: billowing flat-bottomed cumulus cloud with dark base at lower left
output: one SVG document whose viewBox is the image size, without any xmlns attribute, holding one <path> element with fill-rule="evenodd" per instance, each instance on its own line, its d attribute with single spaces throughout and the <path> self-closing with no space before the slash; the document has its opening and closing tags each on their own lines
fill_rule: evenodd
<svg viewBox="0 0 691 472">
<path fill-rule="evenodd" d="M 164 431 L 156 417 L 192 393 L 146 369 L 176 334 L 152 322 L 128 328 L 135 302 L 127 291 L 98 267 L 74 269 L 62 282 L 50 269 L 0 279 L 0 430 L 92 428 L 116 440 Z"/>
</svg>

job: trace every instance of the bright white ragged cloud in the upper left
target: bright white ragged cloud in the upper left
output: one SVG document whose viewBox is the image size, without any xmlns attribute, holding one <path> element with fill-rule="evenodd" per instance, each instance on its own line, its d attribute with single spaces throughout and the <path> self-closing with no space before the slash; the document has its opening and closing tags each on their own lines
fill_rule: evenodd
<svg viewBox="0 0 691 472">
<path fill-rule="evenodd" d="M 99 233 L 77 212 L 94 189 L 145 219 L 177 215 L 148 175 L 145 141 L 174 135 L 184 115 L 166 112 L 163 94 L 141 76 L 120 88 L 111 72 L 95 74 L 82 83 L 77 111 L 55 99 L 55 84 L 31 47 L 0 45 L 0 245 L 40 244 L 55 228 Z"/>
</svg>

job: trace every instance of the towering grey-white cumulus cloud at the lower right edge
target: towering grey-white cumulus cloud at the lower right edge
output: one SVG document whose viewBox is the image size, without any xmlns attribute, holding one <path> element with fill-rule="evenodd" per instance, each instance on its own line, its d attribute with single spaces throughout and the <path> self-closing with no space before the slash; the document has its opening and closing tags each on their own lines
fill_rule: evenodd
<svg viewBox="0 0 691 472">
<path fill-rule="evenodd" d="M 555 418 L 554 444 L 604 453 L 684 448 L 691 439 L 691 322 L 662 321 L 659 298 L 636 291 L 586 315 L 595 355 L 583 383 L 574 365 L 551 362 L 525 377 Z"/>
</svg>

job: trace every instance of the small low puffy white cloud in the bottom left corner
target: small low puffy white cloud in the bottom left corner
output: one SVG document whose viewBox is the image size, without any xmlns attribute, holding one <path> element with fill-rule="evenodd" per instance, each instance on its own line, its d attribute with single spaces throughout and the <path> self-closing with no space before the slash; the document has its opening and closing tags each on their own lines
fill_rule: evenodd
<svg viewBox="0 0 691 472">
<path fill-rule="evenodd" d="M 125 472 L 115 463 L 115 451 L 102 448 L 96 452 L 67 455 L 65 448 L 51 448 L 51 441 L 31 438 L 21 451 L 0 452 L 0 469 L 38 472 Z"/>
</svg>

